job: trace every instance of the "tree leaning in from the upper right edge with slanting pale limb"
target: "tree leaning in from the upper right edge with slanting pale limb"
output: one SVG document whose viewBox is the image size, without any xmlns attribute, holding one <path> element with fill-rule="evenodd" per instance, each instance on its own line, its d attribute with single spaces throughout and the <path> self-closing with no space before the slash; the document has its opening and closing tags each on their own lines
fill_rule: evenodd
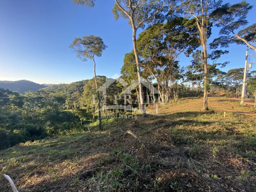
<svg viewBox="0 0 256 192">
<path fill-rule="evenodd" d="M 233 5 L 226 3 L 212 11 L 210 16 L 215 26 L 221 28 L 222 35 L 216 38 L 212 45 L 215 44 L 216 47 L 221 44 L 222 47 L 227 47 L 229 43 L 246 44 L 256 52 L 256 23 L 246 27 L 246 17 L 252 8 L 252 5 L 242 1 Z"/>
</svg>

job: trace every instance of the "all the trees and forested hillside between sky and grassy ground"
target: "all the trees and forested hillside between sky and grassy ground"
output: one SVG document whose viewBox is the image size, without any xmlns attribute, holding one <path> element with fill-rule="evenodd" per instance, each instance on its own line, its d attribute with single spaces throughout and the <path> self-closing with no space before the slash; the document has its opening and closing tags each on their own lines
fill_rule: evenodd
<svg viewBox="0 0 256 192">
<path fill-rule="evenodd" d="M 89 6 L 94 4 L 94 1 L 74 2 Z M 125 1 L 126 4 L 127 2 Z M 130 2 L 137 4 L 140 1 Z M 144 104 L 151 103 L 155 106 L 155 102 L 177 102 L 179 98 L 191 96 L 202 96 L 205 100 L 203 107 L 207 110 L 207 97 L 210 94 L 213 96 L 214 91 L 238 98 L 242 91 L 244 68 L 222 71 L 229 61 L 219 63 L 218 59 L 229 51 L 218 48 L 227 48 L 229 44 L 236 43 L 249 45 L 250 50 L 255 50 L 255 24 L 247 26 L 246 20 L 252 6 L 246 1 L 234 5 L 221 4 L 220 1 L 202 1 L 199 9 L 195 2 L 181 1 L 179 6 L 174 7 L 172 1 L 152 1 L 149 4 L 142 1 L 136 9 L 129 8 L 127 4 L 126 8 L 131 10 L 125 10 L 117 1 L 112 10 L 115 19 L 123 16 L 129 20 L 129 24 L 130 21 L 134 22 L 131 24 L 133 33 L 139 27 L 144 28 L 137 39 L 136 35 L 133 36 L 136 49 L 124 55 L 121 78 L 128 84 L 144 78 L 159 91 L 158 94 L 154 94 L 153 89 L 148 89 L 141 81 L 128 93 L 123 92 L 128 86 L 124 87 L 115 80 L 107 87 L 106 93 L 97 91 L 106 82 L 106 77 L 97 76 L 96 73 L 94 79 L 52 85 L 37 92 L 28 91 L 23 95 L 1 89 L 1 148 L 87 130 L 85 124 L 91 121 L 100 121 L 101 129 L 101 119 L 95 118 L 101 112 L 99 109 L 126 103 L 124 96 L 116 103 L 115 95 L 126 95 L 134 108 L 139 110 L 144 108 Z M 145 15 L 140 17 L 140 11 L 149 8 L 151 12 L 144 13 L 149 15 L 148 18 L 144 18 Z M 150 16 L 155 18 L 152 20 Z M 211 36 L 213 27 L 220 28 L 220 36 L 213 42 L 208 42 L 210 51 L 206 54 L 204 43 Z M 240 30 L 241 27 L 244 29 Z M 103 40 L 93 35 L 84 36 L 82 39 L 75 38 L 69 47 L 83 61 L 92 59 L 95 66 L 94 56 L 101 56 L 102 51 L 107 49 Z M 192 58 L 191 64 L 186 68 L 179 65 L 181 54 Z M 247 93 L 250 96 L 255 96 L 255 72 L 247 73 Z M 98 105 L 93 102 L 93 96 L 97 94 Z M 131 111 L 102 110 L 101 113 L 103 114 L 99 117 Z"/>
</svg>

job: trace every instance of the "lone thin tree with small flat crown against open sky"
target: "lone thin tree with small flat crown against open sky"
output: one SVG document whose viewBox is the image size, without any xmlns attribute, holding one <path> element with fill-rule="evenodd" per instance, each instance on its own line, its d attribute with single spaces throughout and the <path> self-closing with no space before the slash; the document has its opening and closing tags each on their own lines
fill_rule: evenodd
<svg viewBox="0 0 256 192">
<path fill-rule="evenodd" d="M 98 98 L 98 115 L 99 115 L 99 129 L 101 130 L 101 111 L 100 111 L 100 96 L 97 85 L 97 76 L 96 76 L 96 63 L 94 56 L 101 57 L 102 51 L 107 48 L 104 44 L 102 38 L 99 36 L 89 35 L 83 36 L 81 38 L 75 38 L 73 43 L 69 46 L 74 53 L 77 54 L 77 57 L 82 61 L 87 61 L 87 59 L 92 59 L 94 62 L 94 80 L 97 89 L 97 98 Z"/>
</svg>

